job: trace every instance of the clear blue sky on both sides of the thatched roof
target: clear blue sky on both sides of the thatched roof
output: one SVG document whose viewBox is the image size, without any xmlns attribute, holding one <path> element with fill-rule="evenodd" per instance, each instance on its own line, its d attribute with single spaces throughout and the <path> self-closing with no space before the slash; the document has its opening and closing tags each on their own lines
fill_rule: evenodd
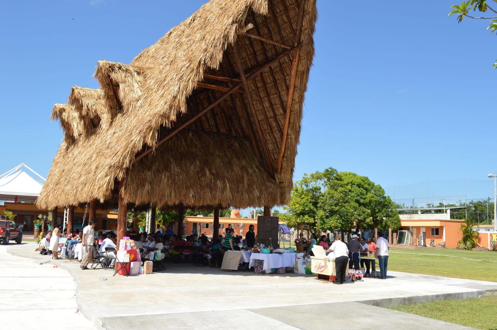
<svg viewBox="0 0 497 330">
<path fill-rule="evenodd" d="M 98 60 L 129 63 L 205 2 L 3 2 L 0 171 L 24 162 L 46 175 L 62 138 L 53 104 L 72 85 L 97 88 Z M 397 186 L 396 198 L 464 194 L 463 178 L 473 198 L 493 195 L 497 36 L 447 17 L 455 2 L 318 0 L 295 179 L 332 166 L 392 197 Z"/>
</svg>

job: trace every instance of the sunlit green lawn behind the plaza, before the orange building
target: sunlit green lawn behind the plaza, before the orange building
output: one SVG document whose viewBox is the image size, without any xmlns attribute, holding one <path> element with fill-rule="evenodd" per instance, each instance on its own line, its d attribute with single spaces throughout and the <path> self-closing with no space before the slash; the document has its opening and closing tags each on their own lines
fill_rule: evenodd
<svg viewBox="0 0 497 330">
<path fill-rule="evenodd" d="M 497 282 L 497 252 L 391 248 L 388 270 Z"/>
</svg>

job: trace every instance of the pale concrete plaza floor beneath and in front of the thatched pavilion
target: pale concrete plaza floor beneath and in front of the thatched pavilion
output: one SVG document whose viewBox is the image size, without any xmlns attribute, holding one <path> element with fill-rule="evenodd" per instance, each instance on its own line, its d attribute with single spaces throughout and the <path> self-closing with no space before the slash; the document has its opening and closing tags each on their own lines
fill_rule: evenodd
<svg viewBox="0 0 497 330">
<path fill-rule="evenodd" d="M 50 260 L 34 249 L 34 244 L 23 244 L 7 251 Z M 467 299 L 497 290 L 496 282 L 401 272 L 389 272 L 387 280 L 366 278 L 340 286 L 312 275 L 258 275 L 190 264 L 167 264 L 166 271 L 151 275 L 112 277 L 113 270 L 81 270 L 74 260 L 50 262 L 73 275 L 81 313 L 105 329 L 219 329 L 226 320 L 231 329 L 316 329 L 331 323 L 334 329 L 352 324 L 469 329 L 382 307 Z"/>
</svg>

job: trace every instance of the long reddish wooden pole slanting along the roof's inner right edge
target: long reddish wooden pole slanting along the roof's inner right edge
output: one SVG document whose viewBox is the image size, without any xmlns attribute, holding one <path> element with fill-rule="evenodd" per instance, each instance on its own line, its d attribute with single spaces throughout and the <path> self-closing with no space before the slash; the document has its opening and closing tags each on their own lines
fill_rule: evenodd
<svg viewBox="0 0 497 330">
<path fill-rule="evenodd" d="M 297 31 L 295 32 L 295 46 L 300 43 L 302 34 L 302 22 L 304 20 L 304 1 L 299 3 L 299 16 L 297 18 Z M 285 125 L 283 126 L 283 137 L 281 139 L 281 148 L 278 155 L 277 173 L 281 173 L 283 165 L 283 156 L 285 155 L 286 140 L 288 139 L 288 127 L 290 126 L 290 114 L 292 112 L 293 92 L 295 90 L 295 79 L 297 77 L 297 68 L 299 64 L 300 50 L 293 53 L 292 71 L 290 72 L 290 86 L 288 87 L 288 97 L 286 99 Z"/>
</svg>

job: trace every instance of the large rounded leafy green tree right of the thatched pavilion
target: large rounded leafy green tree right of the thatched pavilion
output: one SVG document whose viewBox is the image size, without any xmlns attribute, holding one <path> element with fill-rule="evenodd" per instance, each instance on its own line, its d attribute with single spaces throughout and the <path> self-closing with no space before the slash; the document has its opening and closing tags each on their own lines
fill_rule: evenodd
<svg viewBox="0 0 497 330">
<path fill-rule="evenodd" d="M 400 218 L 385 190 L 352 172 L 330 167 L 305 174 L 294 185 L 281 215 L 289 226 L 308 224 L 314 230 L 397 229 Z"/>
</svg>

